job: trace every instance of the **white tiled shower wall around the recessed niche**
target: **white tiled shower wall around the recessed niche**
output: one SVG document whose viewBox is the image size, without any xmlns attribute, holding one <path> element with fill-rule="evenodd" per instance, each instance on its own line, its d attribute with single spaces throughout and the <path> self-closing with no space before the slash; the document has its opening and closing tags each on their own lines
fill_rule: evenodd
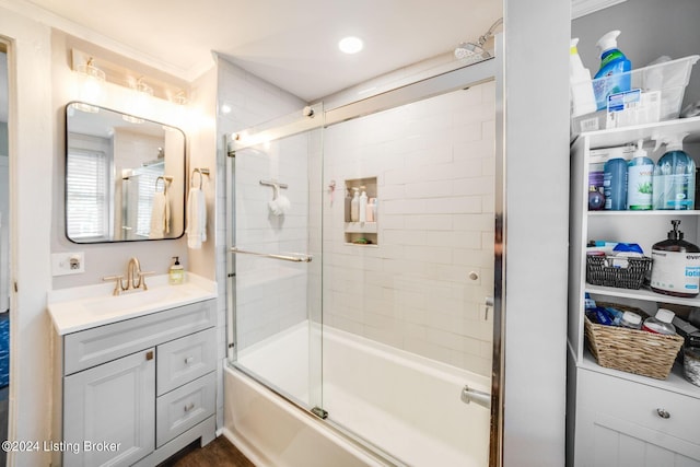
<svg viewBox="0 0 700 467">
<path fill-rule="evenodd" d="M 324 132 L 324 324 L 490 375 L 494 84 Z M 343 236 L 343 180 L 377 178 L 378 245 Z M 469 279 L 476 272 L 478 279 Z"/>
</svg>

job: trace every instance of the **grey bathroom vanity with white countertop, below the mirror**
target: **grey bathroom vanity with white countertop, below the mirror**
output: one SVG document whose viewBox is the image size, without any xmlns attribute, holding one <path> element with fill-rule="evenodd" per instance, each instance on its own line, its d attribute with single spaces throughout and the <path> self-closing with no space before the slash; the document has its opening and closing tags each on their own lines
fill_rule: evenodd
<svg viewBox="0 0 700 467">
<path fill-rule="evenodd" d="M 119 296 L 49 295 L 54 466 L 155 466 L 214 439 L 212 284 L 190 278 Z"/>
</svg>

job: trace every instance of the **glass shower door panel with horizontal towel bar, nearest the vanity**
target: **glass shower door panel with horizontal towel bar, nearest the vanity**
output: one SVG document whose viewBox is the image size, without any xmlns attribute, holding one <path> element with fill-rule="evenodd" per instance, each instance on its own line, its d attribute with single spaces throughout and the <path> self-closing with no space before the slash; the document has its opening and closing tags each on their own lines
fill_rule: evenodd
<svg viewBox="0 0 700 467">
<path fill-rule="evenodd" d="M 322 407 L 320 131 L 230 151 L 228 174 L 230 360 L 310 410 Z"/>
</svg>

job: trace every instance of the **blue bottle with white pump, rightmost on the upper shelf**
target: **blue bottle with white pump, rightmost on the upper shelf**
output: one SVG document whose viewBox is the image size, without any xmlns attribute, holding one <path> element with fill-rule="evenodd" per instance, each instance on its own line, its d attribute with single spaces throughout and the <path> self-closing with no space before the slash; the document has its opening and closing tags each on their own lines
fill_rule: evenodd
<svg viewBox="0 0 700 467">
<path fill-rule="evenodd" d="M 656 149 L 666 144 L 666 152 L 654 167 L 654 209 L 695 209 L 696 163 L 682 150 L 688 133 L 654 136 Z"/>
</svg>

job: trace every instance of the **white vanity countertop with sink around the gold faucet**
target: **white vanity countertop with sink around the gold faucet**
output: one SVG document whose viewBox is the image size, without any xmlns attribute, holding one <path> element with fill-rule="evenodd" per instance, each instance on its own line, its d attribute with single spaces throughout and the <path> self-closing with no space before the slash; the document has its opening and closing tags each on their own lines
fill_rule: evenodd
<svg viewBox="0 0 700 467">
<path fill-rule="evenodd" d="M 167 283 L 167 275 L 145 280 L 149 290 L 121 292 L 119 295 L 113 295 L 112 282 L 50 291 L 48 313 L 56 332 L 63 336 L 217 297 L 217 282 L 191 272 L 187 273 L 184 283 L 177 285 Z"/>
</svg>

